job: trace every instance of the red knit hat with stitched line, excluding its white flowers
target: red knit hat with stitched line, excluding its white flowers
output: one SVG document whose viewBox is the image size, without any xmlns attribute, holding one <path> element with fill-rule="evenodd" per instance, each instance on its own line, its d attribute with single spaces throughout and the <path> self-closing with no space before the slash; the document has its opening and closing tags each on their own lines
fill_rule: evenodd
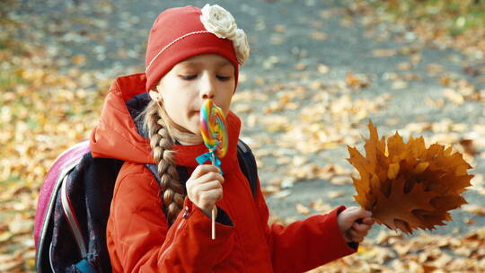
<svg viewBox="0 0 485 273">
<path fill-rule="evenodd" d="M 198 7 L 185 6 L 167 9 L 158 15 L 146 47 L 146 91 L 154 90 L 154 85 L 158 84 L 163 75 L 184 59 L 211 53 L 231 61 L 237 85 L 239 67 L 233 40 L 219 38 L 213 31 L 207 31 L 201 22 L 201 14 Z M 229 16 L 232 18 L 230 13 Z M 249 47 L 247 50 L 249 54 Z"/>
</svg>

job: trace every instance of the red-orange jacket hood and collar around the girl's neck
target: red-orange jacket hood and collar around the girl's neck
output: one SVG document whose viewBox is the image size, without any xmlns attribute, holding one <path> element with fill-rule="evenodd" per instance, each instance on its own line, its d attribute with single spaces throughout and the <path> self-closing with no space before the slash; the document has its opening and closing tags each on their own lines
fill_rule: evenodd
<svg viewBox="0 0 485 273">
<path fill-rule="evenodd" d="M 145 73 L 117 78 L 110 86 L 101 110 L 101 119 L 93 129 L 90 148 L 94 158 L 115 158 L 133 163 L 154 163 L 149 139 L 142 136 L 134 115 L 145 109 L 149 99 L 145 93 Z M 142 99 L 140 99 L 142 98 Z M 135 101 L 136 103 L 133 103 Z M 136 109 L 133 109 L 136 104 Z M 130 106 L 128 106 L 130 105 Z M 222 159 L 223 171 L 237 163 L 237 141 L 241 120 L 229 112 L 226 117 L 229 147 Z M 178 165 L 196 167 L 195 158 L 207 153 L 207 147 L 200 145 L 173 145 Z"/>
</svg>

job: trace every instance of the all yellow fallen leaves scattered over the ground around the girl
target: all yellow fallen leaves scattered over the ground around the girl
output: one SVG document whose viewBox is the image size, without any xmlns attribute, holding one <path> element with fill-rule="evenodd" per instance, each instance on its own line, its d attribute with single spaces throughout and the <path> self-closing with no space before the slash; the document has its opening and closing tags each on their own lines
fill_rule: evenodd
<svg viewBox="0 0 485 273">
<path fill-rule="evenodd" d="M 8 0 L 8 3 L 14 2 L 16 1 Z M 66 2 L 66 5 L 74 2 Z M 4 4 L 7 2 L 4 1 L 2 7 Z M 29 5 L 29 2 L 24 4 Z M 110 1 L 101 1 L 99 7 L 99 15 L 106 16 L 113 12 L 114 4 Z M 79 10 L 84 12 L 89 8 L 89 4 L 81 3 L 79 6 Z M 40 183 L 50 164 L 66 147 L 89 136 L 97 123 L 101 101 L 110 81 L 116 75 L 139 71 L 133 67 L 119 67 L 112 68 L 110 73 L 106 73 L 101 69 L 92 71 L 84 68 L 93 58 L 125 59 L 137 56 L 143 51 L 140 50 L 141 45 L 140 48 L 119 49 L 113 52 L 105 47 L 93 45 L 92 54 L 89 55 L 66 52 L 64 48 L 59 47 L 78 42 L 91 46 L 93 40 L 109 40 L 104 36 L 110 26 L 107 20 L 91 16 L 84 18 L 76 9 L 73 5 L 70 10 L 68 9 L 69 14 L 62 14 L 62 18 L 55 18 L 48 23 L 43 22 L 43 15 L 37 14 L 0 16 L 3 27 L 3 31 L 0 31 L 0 141 L 3 144 L 3 157 L 0 159 L 0 272 L 33 271 L 34 242 L 31 229 Z M 338 7 L 325 10 L 321 15 L 322 18 L 331 18 L 336 14 L 344 15 L 345 18 L 341 22 L 348 25 L 353 19 L 347 13 L 346 8 Z M 129 13 L 124 13 L 123 17 L 127 17 L 127 20 L 118 23 L 120 27 L 130 28 L 137 22 L 136 17 L 128 18 Z M 110 16 L 106 18 L 109 19 Z M 72 19 L 75 26 L 64 19 Z M 100 31 L 85 32 L 84 26 L 93 26 Z M 257 22 L 256 26 L 260 28 L 264 26 L 264 22 Z M 287 42 L 287 37 L 282 33 L 288 28 L 289 26 L 276 25 L 275 33 L 269 37 L 270 42 Z M 73 31 L 74 29 L 78 30 Z M 23 33 L 24 36 L 20 37 L 18 33 Z M 61 42 L 44 42 L 41 39 L 46 37 L 42 37 L 42 33 L 48 40 Z M 424 32 L 417 29 L 417 33 L 421 35 Z M 328 35 L 330 37 L 330 32 Z M 307 38 L 314 41 L 330 40 L 327 39 L 327 33 L 321 30 L 309 32 Z M 123 39 L 117 37 L 117 40 Z M 304 49 L 296 51 L 299 57 L 308 54 Z M 390 71 L 383 76 L 393 82 L 394 89 L 405 89 L 410 81 L 420 79 L 421 75 L 413 71 L 421 61 L 419 48 L 382 48 L 373 52 L 375 57 L 409 57 L 408 60 L 402 60 L 407 63 L 406 65 L 396 67 L 399 72 Z M 471 49 L 467 52 L 474 51 Z M 280 57 L 272 56 L 265 60 L 262 66 L 270 69 L 281 62 Z M 360 138 L 360 129 L 364 126 L 363 121 L 371 114 L 384 110 L 392 96 L 383 93 L 367 99 L 359 97 L 358 92 L 366 92 L 374 86 L 373 79 L 361 71 L 346 71 L 336 80 L 323 81 L 320 77 L 308 76 L 311 72 L 324 77 L 339 73 L 339 67 L 331 66 L 330 62 L 311 66 L 299 60 L 294 68 L 298 74 L 288 75 L 285 84 L 272 82 L 262 75 L 250 78 L 242 74 L 241 83 L 251 82 L 258 88 L 238 90 L 234 95 L 234 110 L 238 114 L 247 115 L 246 119 L 243 119 L 243 128 L 256 131 L 254 135 L 258 141 L 253 142 L 251 147 L 259 157 L 260 167 L 265 167 L 261 158 L 273 156 L 278 158 L 282 165 L 292 166 L 285 168 L 281 174 L 282 178 L 276 178 L 263 185 L 263 190 L 265 194 L 286 198 L 291 194 L 291 187 L 296 181 L 322 180 L 334 186 L 349 187 L 352 183 L 349 178 L 352 172 L 346 166 L 337 163 L 312 163 L 311 156 L 341 145 L 356 145 Z M 444 88 L 454 91 L 453 96 L 443 99 L 430 98 L 427 103 L 443 107 L 449 103 L 456 104 L 456 101 L 461 100 L 456 98 L 460 97 L 463 98 L 461 105 L 466 105 L 468 101 L 484 101 L 483 91 L 477 90 L 469 82 L 449 75 L 438 66 L 426 68 L 427 73 L 436 76 Z M 479 66 L 465 66 L 463 72 L 477 77 L 484 74 Z M 254 106 L 259 102 L 258 105 L 263 105 L 260 109 Z M 463 128 L 463 125 L 444 119 L 435 122 L 416 121 L 403 130 L 408 133 L 433 133 L 430 139 L 446 144 L 460 143 L 456 147 L 462 148 L 470 158 L 485 158 L 483 125 L 476 124 L 470 128 Z M 463 138 L 462 133 L 465 131 L 473 134 Z M 268 149 L 265 145 L 275 143 L 277 149 L 265 151 Z M 485 194 L 482 177 L 476 176 L 472 185 L 473 190 Z M 300 204 L 298 209 L 304 214 L 325 213 L 331 210 L 331 205 L 324 200 L 340 198 L 341 195 L 340 190 L 330 191 L 325 193 L 323 198 L 313 200 L 309 204 Z M 480 216 L 483 211 L 479 206 L 464 209 L 476 216 Z M 277 221 L 285 223 L 282 220 Z M 472 222 L 473 218 L 470 218 L 468 223 Z M 442 244 L 450 240 L 451 236 L 423 234 L 417 239 L 409 239 L 387 234 L 381 241 L 364 244 L 357 255 L 332 263 L 322 271 L 483 270 L 483 232 L 454 236 L 454 240 L 463 241 L 460 246 L 456 241 L 449 245 Z M 432 248 L 433 245 L 436 247 Z M 458 256 L 457 261 L 450 261 L 450 256 L 446 254 L 448 250 L 463 255 L 464 258 Z M 320 269 L 316 270 L 315 272 L 318 272 Z"/>
</svg>

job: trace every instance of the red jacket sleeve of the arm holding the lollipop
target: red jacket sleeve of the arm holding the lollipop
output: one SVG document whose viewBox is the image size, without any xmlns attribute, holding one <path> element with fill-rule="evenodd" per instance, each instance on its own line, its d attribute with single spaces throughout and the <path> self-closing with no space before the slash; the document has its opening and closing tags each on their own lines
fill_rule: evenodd
<svg viewBox="0 0 485 273">
<path fill-rule="evenodd" d="M 234 227 L 216 223 L 216 240 L 212 240 L 210 218 L 186 198 L 181 214 L 169 228 L 159 191 L 146 168 L 119 177 L 107 231 L 113 271 L 211 271 L 234 246 Z"/>
</svg>

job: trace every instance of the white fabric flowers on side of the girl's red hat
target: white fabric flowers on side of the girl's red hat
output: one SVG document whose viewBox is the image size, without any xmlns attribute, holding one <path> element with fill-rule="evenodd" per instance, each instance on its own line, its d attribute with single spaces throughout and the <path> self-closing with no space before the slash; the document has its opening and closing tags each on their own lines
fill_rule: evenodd
<svg viewBox="0 0 485 273">
<path fill-rule="evenodd" d="M 243 65 L 250 48 L 246 33 L 237 28 L 233 15 L 217 4 L 206 4 L 201 12 L 200 22 L 204 28 L 218 38 L 232 40 L 237 61 Z"/>
</svg>

